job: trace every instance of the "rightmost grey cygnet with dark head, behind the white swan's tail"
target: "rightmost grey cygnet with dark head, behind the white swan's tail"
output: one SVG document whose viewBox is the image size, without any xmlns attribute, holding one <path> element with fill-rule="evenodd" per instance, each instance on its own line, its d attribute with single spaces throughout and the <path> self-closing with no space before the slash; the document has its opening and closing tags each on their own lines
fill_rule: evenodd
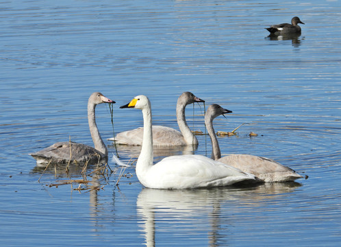
<svg viewBox="0 0 341 247">
<path fill-rule="evenodd" d="M 212 140 L 212 156 L 216 161 L 236 167 L 243 172 L 248 172 L 257 177 L 260 182 L 286 182 L 302 178 L 294 170 L 273 161 L 270 158 L 254 156 L 249 154 L 229 154 L 221 157 L 220 148 L 213 128 L 213 119 L 219 115 L 231 113 L 231 110 L 222 108 L 217 104 L 212 104 L 205 113 L 205 125 Z"/>
</svg>

